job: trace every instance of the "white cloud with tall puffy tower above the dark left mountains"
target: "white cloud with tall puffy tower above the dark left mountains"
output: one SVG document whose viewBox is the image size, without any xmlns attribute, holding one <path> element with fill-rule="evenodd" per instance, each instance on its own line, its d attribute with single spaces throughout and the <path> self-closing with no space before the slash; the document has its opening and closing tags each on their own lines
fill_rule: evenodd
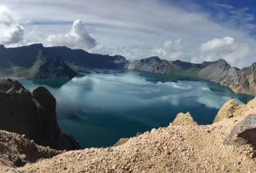
<svg viewBox="0 0 256 173">
<path fill-rule="evenodd" d="M 50 35 L 46 38 L 47 46 L 67 46 L 90 50 L 96 46 L 96 40 L 87 32 L 81 19 L 75 20 L 67 34 Z"/>
</svg>

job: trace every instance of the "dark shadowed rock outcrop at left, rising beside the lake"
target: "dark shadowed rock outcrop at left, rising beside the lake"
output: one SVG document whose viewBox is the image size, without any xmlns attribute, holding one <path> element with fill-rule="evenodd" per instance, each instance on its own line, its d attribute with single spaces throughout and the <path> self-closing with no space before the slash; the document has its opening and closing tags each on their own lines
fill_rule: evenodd
<svg viewBox="0 0 256 173">
<path fill-rule="evenodd" d="M 0 80 L 0 130 L 25 134 L 38 145 L 57 150 L 81 149 L 59 129 L 55 106 L 55 98 L 44 87 L 30 93 L 18 81 Z"/>
</svg>

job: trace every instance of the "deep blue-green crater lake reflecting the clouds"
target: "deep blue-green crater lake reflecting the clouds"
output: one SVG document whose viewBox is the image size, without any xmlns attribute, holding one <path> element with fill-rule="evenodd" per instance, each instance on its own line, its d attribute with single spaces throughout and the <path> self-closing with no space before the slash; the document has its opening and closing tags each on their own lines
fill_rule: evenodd
<svg viewBox="0 0 256 173">
<path fill-rule="evenodd" d="M 83 147 L 111 146 L 119 138 L 168 126 L 179 112 L 190 112 L 207 125 L 226 101 L 243 104 L 253 98 L 207 81 L 122 69 L 91 69 L 72 80 L 20 82 L 29 90 L 50 90 L 57 99 L 59 126 Z"/>
</svg>

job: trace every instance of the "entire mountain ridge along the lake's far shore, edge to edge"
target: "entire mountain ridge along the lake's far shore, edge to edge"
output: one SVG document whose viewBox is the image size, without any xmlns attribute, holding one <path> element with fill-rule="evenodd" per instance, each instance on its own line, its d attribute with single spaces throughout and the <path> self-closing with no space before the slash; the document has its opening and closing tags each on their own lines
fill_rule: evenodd
<svg viewBox="0 0 256 173">
<path fill-rule="evenodd" d="M 73 78 L 75 71 L 84 68 L 126 68 L 196 77 L 227 86 L 236 93 L 256 95 L 256 63 L 238 69 L 223 59 L 196 64 L 151 56 L 131 62 L 121 55 L 101 55 L 66 46 L 44 47 L 38 43 L 17 48 L 0 45 L 0 67 L 2 78 L 9 77 L 6 74 L 11 78 Z"/>
</svg>

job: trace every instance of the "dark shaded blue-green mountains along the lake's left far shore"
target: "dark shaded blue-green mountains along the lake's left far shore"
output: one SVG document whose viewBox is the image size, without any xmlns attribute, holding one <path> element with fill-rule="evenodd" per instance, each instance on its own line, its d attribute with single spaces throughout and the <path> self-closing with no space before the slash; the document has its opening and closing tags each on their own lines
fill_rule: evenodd
<svg viewBox="0 0 256 173">
<path fill-rule="evenodd" d="M 70 67 L 119 68 L 125 63 L 127 60 L 123 56 L 99 55 L 67 47 L 43 47 L 42 44 L 17 48 L 0 46 L 2 78 L 73 78 L 77 74 Z"/>
</svg>

